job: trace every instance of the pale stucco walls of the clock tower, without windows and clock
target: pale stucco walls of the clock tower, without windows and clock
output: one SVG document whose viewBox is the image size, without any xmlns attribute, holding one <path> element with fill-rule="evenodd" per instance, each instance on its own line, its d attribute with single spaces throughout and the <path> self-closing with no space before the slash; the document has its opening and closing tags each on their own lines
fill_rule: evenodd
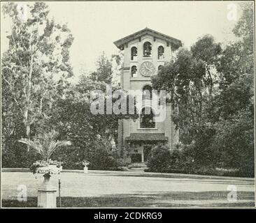
<svg viewBox="0 0 256 223">
<path fill-rule="evenodd" d="M 143 44 L 150 42 L 152 45 L 151 57 L 143 57 Z M 164 59 L 158 59 L 158 47 L 164 47 Z M 137 48 L 137 57 L 131 61 L 131 47 Z M 151 61 L 155 67 L 155 74 L 157 75 L 158 66 L 164 65 L 166 61 L 171 61 L 172 56 L 171 44 L 167 46 L 166 41 L 155 38 L 150 35 L 141 36 L 141 40 L 136 38 L 130 43 L 125 44 L 124 47 L 124 68 L 122 70 L 122 89 L 126 90 L 142 90 L 145 84 L 151 84 L 150 77 L 144 77 L 140 72 L 140 65 L 143 61 Z M 137 76 L 131 77 L 131 66 L 137 66 Z M 166 118 L 163 122 L 157 122 L 155 129 L 141 129 L 139 128 L 139 118 L 136 121 L 123 120 L 122 121 L 122 139 L 125 143 L 125 138 L 129 137 L 131 133 L 164 133 L 168 137 L 168 144 L 172 147 L 173 144 L 178 143 L 178 132 L 175 130 L 173 122 L 171 121 L 171 105 L 166 105 Z"/>
</svg>

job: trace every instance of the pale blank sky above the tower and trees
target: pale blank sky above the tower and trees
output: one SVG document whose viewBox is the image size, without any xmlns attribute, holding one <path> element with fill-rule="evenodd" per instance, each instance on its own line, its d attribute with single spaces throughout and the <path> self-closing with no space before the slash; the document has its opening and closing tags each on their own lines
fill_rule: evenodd
<svg viewBox="0 0 256 223">
<path fill-rule="evenodd" d="M 148 27 L 178 38 L 190 47 L 205 34 L 217 42 L 234 40 L 232 29 L 240 17 L 239 1 L 99 1 L 47 2 L 50 17 L 67 23 L 74 41 L 71 65 L 76 77 L 80 69 L 92 71 L 99 55 L 117 54 L 113 42 Z M 235 6 L 234 6 L 235 5 Z M 237 16 L 228 14 L 234 7 Z M 1 15 L 1 52 L 8 47 L 8 18 Z"/>
</svg>

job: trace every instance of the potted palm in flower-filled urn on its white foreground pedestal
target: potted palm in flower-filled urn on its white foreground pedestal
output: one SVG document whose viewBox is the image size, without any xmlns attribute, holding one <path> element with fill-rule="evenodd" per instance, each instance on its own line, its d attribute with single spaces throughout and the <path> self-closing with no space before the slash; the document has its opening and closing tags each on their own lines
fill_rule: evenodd
<svg viewBox="0 0 256 223">
<path fill-rule="evenodd" d="M 41 187 L 38 189 L 38 207 L 55 208 L 56 207 L 56 191 L 55 187 L 50 185 L 50 176 L 59 174 L 62 170 L 62 162 L 50 160 L 50 156 L 57 148 L 70 146 L 70 141 L 56 140 L 57 132 L 52 131 L 38 135 L 36 139 L 20 139 L 23 144 L 27 144 L 28 150 L 33 149 L 41 155 L 42 160 L 34 162 L 30 170 L 33 174 L 43 174 L 44 180 Z"/>
</svg>

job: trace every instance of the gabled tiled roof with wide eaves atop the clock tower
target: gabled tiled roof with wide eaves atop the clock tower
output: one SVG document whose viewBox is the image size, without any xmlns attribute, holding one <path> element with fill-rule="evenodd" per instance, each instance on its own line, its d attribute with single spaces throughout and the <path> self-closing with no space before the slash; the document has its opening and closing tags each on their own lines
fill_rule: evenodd
<svg viewBox="0 0 256 223">
<path fill-rule="evenodd" d="M 159 33 L 155 30 L 152 30 L 152 29 L 148 29 L 147 27 L 145 29 L 142 29 L 141 31 L 138 31 L 136 33 L 133 33 L 129 36 L 125 36 L 124 38 L 121 38 L 120 40 L 116 40 L 114 42 L 114 44 L 116 45 L 116 47 L 118 47 L 119 49 L 123 49 L 124 45 L 126 43 L 129 43 L 131 40 L 134 40 L 136 38 L 140 38 L 141 36 L 144 36 L 145 34 L 149 34 L 149 35 L 152 35 L 156 38 L 159 38 L 159 39 L 162 39 L 162 40 L 166 40 L 167 42 L 170 42 L 171 45 L 175 48 L 175 49 L 178 49 L 178 47 L 181 47 L 182 44 L 181 44 L 181 41 L 176 39 L 176 38 L 173 38 L 171 36 L 167 36 L 163 33 Z"/>
</svg>

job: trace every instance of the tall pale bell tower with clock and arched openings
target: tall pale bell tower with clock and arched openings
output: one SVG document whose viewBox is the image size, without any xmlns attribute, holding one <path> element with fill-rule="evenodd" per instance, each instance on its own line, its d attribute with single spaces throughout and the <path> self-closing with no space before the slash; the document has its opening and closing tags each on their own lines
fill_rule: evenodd
<svg viewBox="0 0 256 223">
<path fill-rule="evenodd" d="M 124 52 L 124 66 L 121 72 L 121 88 L 125 90 L 152 91 L 151 77 L 173 59 L 173 52 L 180 47 L 181 41 L 152 29 L 145 28 L 114 42 Z M 147 98 L 148 97 L 148 98 Z M 171 105 L 166 105 L 166 118 L 154 122 L 154 107 L 147 104 L 150 95 L 143 94 L 143 108 L 136 121 L 120 120 L 118 128 L 118 148 L 120 154 L 125 148 L 131 150 L 131 163 L 144 163 L 150 149 L 160 142 L 170 149 L 178 143 L 178 131 L 171 121 Z M 145 113 L 145 109 L 150 112 Z"/>
</svg>

